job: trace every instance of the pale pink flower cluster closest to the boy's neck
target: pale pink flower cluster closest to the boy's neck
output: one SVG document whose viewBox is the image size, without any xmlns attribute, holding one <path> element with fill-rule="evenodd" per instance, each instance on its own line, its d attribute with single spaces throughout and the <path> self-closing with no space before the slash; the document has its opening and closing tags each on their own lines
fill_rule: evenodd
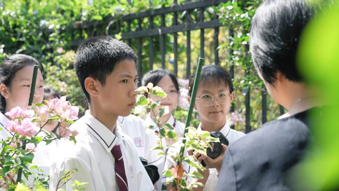
<svg viewBox="0 0 339 191">
<path fill-rule="evenodd" d="M 48 110 L 52 111 L 54 115 L 60 116 L 60 122 L 78 119 L 79 107 L 71 106 L 71 104 L 66 101 L 66 96 L 62 96 L 60 99 L 51 99 L 48 103 Z"/>
</svg>

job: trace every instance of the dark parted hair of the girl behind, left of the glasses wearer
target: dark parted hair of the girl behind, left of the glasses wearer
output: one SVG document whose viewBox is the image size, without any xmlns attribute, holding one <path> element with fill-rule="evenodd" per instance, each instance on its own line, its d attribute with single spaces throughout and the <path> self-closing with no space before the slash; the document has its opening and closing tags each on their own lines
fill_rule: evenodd
<svg viewBox="0 0 339 191">
<path fill-rule="evenodd" d="M 154 86 L 156 86 L 165 75 L 169 75 L 170 79 L 172 79 L 174 83 L 176 91 L 179 91 L 179 85 L 175 75 L 172 72 L 165 69 L 155 69 L 145 73 L 144 76 L 142 77 L 141 81 L 142 85 L 146 86 L 148 83 L 151 82 L 153 83 Z"/>
</svg>

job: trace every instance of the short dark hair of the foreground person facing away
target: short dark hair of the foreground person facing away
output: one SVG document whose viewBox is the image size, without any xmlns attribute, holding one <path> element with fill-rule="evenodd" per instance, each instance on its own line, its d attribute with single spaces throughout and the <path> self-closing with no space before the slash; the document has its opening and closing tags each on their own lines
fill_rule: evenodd
<svg viewBox="0 0 339 191">
<path fill-rule="evenodd" d="M 296 54 L 300 35 L 314 14 L 306 0 L 265 0 L 252 19 L 252 61 L 265 81 L 273 84 L 277 71 L 290 81 L 302 81 Z"/>
</svg>

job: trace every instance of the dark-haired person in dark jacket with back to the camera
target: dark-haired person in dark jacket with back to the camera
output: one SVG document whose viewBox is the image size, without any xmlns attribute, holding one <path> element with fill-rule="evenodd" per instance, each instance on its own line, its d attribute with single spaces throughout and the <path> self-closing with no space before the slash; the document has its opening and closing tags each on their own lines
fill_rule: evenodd
<svg viewBox="0 0 339 191">
<path fill-rule="evenodd" d="M 290 190 L 285 178 L 310 140 L 307 114 L 322 105 L 296 61 L 300 35 L 314 10 L 307 0 L 265 0 L 257 9 L 250 32 L 253 64 L 268 93 L 288 112 L 227 148 L 216 190 Z"/>
</svg>

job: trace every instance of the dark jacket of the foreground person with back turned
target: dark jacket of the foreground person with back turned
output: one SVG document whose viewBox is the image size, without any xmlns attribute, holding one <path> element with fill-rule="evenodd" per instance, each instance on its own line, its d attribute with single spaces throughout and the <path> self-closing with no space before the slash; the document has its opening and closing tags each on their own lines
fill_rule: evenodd
<svg viewBox="0 0 339 191">
<path fill-rule="evenodd" d="M 308 112 L 266 123 L 229 145 L 216 191 L 288 191 L 284 176 L 308 145 Z"/>
</svg>

